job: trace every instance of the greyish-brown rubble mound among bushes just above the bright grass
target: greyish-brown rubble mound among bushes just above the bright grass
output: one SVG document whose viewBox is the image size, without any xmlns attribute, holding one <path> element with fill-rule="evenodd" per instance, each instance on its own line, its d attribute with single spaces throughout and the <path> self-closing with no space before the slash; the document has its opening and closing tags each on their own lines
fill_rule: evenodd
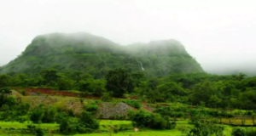
<svg viewBox="0 0 256 136">
<path fill-rule="evenodd" d="M 130 110 L 135 111 L 136 109 L 125 103 L 104 102 L 99 104 L 96 117 L 101 119 L 111 119 L 114 116 L 125 116 Z"/>
</svg>

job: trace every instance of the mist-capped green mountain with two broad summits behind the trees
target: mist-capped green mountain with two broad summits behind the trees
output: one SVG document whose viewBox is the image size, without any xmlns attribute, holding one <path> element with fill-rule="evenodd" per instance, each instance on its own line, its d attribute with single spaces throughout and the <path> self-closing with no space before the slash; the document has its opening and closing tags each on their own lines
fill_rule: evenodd
<svg viewBox="0 0 256 136">
<path fill-rule="evenodd" d="M 202 72 L 201 65 L 176 40 L 121 46 L 90 33 L 50 33 L 35 37 L 18 58 L 0 73 L 36 74 L 46 68 L 84 71 L 101 78 L 108 70 L 123 66 L 161 77 L 174 72 Z"/>
</svg>

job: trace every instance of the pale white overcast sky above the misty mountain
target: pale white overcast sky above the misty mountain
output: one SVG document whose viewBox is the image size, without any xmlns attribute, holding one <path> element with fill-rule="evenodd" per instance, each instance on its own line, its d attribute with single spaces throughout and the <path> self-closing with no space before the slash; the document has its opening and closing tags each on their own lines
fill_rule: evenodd
<svg viewBox="0 0 256 136">
<path fill-rule="evenodd" d="M 0 65 L 33 37 L 86 31 L 120 44 L 174 38 L 206 71 L 256 69 L 255 0 L 0 0 Z"/>
</svg>

